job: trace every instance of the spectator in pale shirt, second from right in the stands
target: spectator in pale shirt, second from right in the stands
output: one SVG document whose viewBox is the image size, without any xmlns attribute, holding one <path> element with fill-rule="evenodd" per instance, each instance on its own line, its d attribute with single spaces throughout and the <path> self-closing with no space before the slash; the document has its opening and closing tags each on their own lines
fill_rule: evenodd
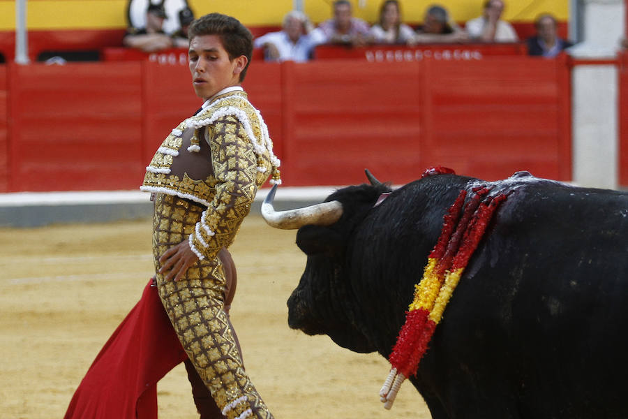
<svg viewBox="0 0 628 419">
<path fill-rule="evenodd" d="M 501 20 L 504 11 L 502 0 L 486 0 L 484 13 L 480 17 L 470 20 L 465 29 L 472 40 L 483 42 L 517 42 L 514 27 Z"/>
</svg>

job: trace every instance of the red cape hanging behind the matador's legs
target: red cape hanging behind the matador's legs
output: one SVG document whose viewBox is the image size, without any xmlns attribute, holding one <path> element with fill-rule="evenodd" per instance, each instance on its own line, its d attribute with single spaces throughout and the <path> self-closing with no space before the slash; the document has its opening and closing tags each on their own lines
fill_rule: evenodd
<svg viewBox="0 0 628 419">
<path fill-rule="evenodd" d="M 64 419 L 157 418 L 157 381 L 187 355 L 150 284 L 96 356 Z"/>
</svg>

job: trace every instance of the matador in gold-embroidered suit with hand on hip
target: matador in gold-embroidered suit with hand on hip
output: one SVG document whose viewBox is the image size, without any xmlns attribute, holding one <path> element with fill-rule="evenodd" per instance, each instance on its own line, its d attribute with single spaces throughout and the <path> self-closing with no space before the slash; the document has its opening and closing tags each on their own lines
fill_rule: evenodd
<svg viewBox="0 0 628 419">
<path fill-rule="evenodd" d="M 140 188 L 154 200 L 158 293 L 222 414 L 272 418 L 244 372 L 225 314 L 218 252 L 234 241 L 257 188 L 269 177 L 281 182 L 279 161 L 260 112 L 240 86 L 251 61 L 251 33 L 218 13 L 195 20 L 189 31 L 193 87 L 205 102 L 167 135 Z"/>
</svg>

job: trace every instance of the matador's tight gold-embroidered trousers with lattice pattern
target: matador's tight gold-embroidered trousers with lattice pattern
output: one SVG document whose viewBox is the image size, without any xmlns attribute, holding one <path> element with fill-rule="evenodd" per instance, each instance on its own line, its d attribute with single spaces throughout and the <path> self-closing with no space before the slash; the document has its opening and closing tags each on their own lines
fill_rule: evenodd
<svg viewBox="0 0 628 419">
<path fill-rule="evenodd" d="M 158 193 L 153 219 L 155 267 L 164 251 L 187 240 L 204 210 Z M 180 281 L 157 273 L 159 296 L 190 361 L 229 419 L 273 418 L 244 372 L 236 338 L 224 311 L 225 274 L 220 259 L 198 260 Z"/>
</svg>

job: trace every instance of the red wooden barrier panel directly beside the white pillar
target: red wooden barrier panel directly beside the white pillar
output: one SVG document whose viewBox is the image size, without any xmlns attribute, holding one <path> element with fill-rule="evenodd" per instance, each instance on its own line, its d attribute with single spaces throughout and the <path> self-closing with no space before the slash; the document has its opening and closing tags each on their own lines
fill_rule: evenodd
<svg viewBox="0 0 628 419">
<path fill-rule="evenodd" d="M 426 61 L 430 161 L 500 179 L 515 170 L 571 179 L 571 105 L 566 57 Z"/>
</svg>

